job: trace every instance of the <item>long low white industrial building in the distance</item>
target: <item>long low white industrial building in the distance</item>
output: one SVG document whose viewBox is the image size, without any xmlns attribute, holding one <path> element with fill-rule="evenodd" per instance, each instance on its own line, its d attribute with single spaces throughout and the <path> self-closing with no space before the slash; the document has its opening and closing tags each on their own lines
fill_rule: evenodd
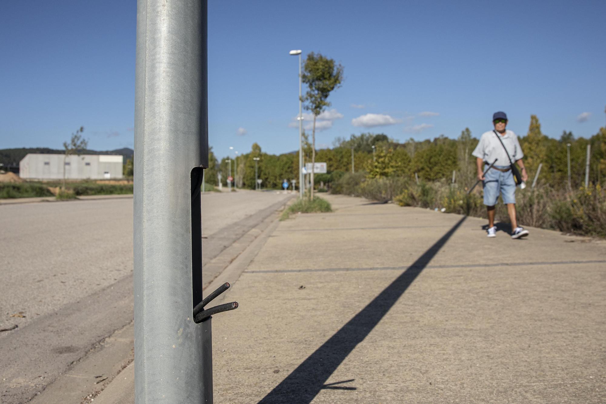
<svg viewBox="0 0 606 404">
<path fill-rule="evenodd" d="M 65 163 L 68 180 L 115 180 L 122 178 L 124 158 L 116 155 L 26 155 L 19 162 L 19 177 L 27 180 L 61 180 Z"/>
</svg>

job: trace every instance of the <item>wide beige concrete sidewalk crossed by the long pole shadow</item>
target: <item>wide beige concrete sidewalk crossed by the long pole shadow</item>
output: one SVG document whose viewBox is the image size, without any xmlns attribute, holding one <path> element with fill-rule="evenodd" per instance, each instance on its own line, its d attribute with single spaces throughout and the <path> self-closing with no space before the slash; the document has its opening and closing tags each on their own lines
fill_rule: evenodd
<svg viewBox="0 0 606 404">
<path fill-rule="evenodd" d="M 213 318 L 216 403 L 606 402 L 604 241 L 326 198 L 216 302 L 240 303 Z M 132 397 L 123 373 L 95 403 Z"/>
</svg>

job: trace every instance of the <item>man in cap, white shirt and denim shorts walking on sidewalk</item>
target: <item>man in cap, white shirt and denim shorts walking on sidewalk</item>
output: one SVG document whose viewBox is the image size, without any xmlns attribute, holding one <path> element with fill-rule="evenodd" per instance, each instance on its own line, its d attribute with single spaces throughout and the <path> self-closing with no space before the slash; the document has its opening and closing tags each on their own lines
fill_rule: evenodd
<svg viewBox="0 0 606 404">
<path fill-rule="evenodd" d="M 495 112 L 493 115 L 494 130 L 482 133 L 478 147 L 473 150 L 472 155 L 477 157 L 478 180 L 484 186 L 484 204 L 488 210 L 488 237 L 496 237 L 494 226 L 494 205 L 501 194 L 503 203 L 507 204 L 507 213 L 511 220 L 511 238 L 520 238 L 528 235 L 528 231 L 518 227 L 516 220 L 516 182 L 511 172 L 510 161 L 518 163 L 522 170 L 522 181 L 528 180 L 528 174 L 522 163 L 522 149 L 518 136 L 511 130 L 505 130 L 507 126 L 507 115 L 505 112 Z M 494 159 L 496 164 L 484 175 L 482 167 L 487 168 Z"/>
</svg>

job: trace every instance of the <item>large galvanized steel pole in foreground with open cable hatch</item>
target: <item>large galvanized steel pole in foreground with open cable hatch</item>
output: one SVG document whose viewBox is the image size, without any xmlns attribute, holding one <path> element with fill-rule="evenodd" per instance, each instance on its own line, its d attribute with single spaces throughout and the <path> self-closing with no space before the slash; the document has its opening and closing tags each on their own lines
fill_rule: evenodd
<svg viewBox="0 0 606 404">
<path fill-rule="evenodd" d="M 202 301 L 200 186 L 208 167 L 207 115 L 207 1 L 139 0 L 134 197 L 139 404 L 212 402 L 211 322 L 196 323 L 193 315 Z"/>
</svg>

